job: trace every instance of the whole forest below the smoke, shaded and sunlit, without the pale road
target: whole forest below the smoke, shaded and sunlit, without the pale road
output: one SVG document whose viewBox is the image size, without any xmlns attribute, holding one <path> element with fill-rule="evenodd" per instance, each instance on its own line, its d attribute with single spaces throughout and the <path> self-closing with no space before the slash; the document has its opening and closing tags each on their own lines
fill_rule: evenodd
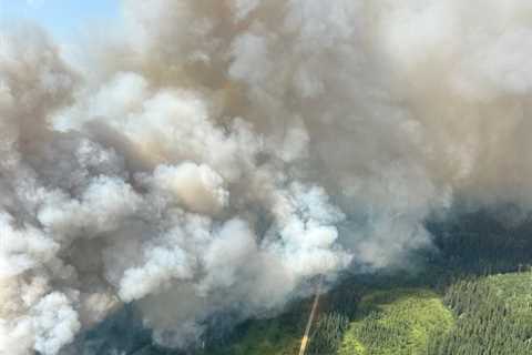
<svg viewBox="0 0 532 355">
<path fill-rule="evenodd" d="M 532 354 L 532 223 L 479 212 L 428 229 L 438 252 L 411 255 L 418 273 L 355 275 L 321 296 L 307 355 Z M 310 303 L 202 355 L 297 354 Z"/>
</svg>

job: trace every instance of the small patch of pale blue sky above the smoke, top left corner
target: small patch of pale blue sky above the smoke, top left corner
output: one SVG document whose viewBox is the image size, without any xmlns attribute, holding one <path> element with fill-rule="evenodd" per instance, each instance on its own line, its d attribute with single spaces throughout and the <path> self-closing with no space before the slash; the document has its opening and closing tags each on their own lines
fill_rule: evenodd
<svg viewBox="0 0 532 355">
<path fill-rule="evenodd" d="M 86 21 L 113 19 L 117 11 L 119 0 L 0 0 L 0 23 L 30 20 L 65 39 Z"/>
</svg>

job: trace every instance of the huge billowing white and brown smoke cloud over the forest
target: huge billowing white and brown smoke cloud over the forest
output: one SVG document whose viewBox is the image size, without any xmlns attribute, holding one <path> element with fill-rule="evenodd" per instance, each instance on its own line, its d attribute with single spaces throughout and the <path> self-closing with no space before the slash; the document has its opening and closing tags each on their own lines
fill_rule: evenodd
<svg viewBox="0 0 532 355">
<path fill-rule="evenodd" d="M 457 201 L 532 205 L 525 1 L 126 0 L 122 22 L 71 55 L 0 33 L 0 354 L 68 351 L 129 302 L 187 346 L 408 265 Z"/>
</svg>

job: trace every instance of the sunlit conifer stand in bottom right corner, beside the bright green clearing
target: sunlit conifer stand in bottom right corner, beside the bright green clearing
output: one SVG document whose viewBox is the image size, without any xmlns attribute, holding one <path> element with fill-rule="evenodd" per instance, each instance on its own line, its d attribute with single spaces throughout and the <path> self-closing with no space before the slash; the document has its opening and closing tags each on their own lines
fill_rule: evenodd
<svg viewBox="0 0 532 355">
<path fill-rule="evenodd" d="M 446 293 L 457 326 L 434 338 L 430 354 L 532 354 L 531 273 L 461 280 Z"/>
</svg>

